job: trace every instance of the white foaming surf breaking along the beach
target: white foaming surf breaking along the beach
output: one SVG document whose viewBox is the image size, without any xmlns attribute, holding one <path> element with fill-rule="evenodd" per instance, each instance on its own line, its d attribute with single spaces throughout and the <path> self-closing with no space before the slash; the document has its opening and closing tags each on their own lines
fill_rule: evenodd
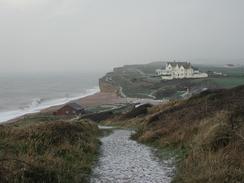
<svg viewBox="0 0 244 183">
<path fill-rule="evenodd" d="M 9 121 L 11 119 L 15 119 L 17 117 L 26 115 L 26 114 L 31 114 L 31 113 L 36 113 L 40 112 L 43 109 L 52 107 L 52 106 L 57 106 L 57 105 L 62 105 L 67 102 L 77 100 L 89 95 L 93 95 L 95 93 L 99 92 L 99 87 L 87 89 L 84 93 L 78 96 L 70 97 L 69 95 L 66 95 L 64 98 L 58 98 L 58 99 L 52 99 L 52 100 L 44 100 L 42 98 L 36 98 L 33 99 L 32 103 L 23 109 L 19 110 L 12 110 L 12 111 L 6 111 L 6 112 L 0 112 L 0 123 Z"/>
</svg>

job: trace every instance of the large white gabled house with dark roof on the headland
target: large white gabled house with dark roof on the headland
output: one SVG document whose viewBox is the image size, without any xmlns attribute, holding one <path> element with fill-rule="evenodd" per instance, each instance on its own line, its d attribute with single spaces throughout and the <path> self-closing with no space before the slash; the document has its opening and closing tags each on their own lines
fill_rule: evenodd
<svg viewBox="0 0 244 183">
<path fill-rule="evenodd" d="M 162 80 L 208 77 L 207 73 L 202 73 L 193 68 L 189 62 L 168 62 L 165 69 L 157 69 L 156 74 Z"/>
</svg>

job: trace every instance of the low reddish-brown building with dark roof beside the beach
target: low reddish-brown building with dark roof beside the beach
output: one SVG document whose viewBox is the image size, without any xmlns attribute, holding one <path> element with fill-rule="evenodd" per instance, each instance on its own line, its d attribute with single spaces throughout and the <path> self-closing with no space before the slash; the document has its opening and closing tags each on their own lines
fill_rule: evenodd
<svg viewBox="0 0 244 183">
<path fill-rule="evenodd" d="M 54 115 L 59 116 L 76 116 L 85 114 L 85 109 L 77 103 L 68 103 L 54 112 Z"/>
</svg>

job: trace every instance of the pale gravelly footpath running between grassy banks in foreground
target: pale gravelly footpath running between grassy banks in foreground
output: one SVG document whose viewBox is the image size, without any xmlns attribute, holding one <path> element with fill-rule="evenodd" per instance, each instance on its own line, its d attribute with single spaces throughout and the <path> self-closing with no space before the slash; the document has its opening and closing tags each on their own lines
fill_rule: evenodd
<svg viewBox="0 0 244 183">
<path fill-rule="evenodd" d="M 173 168 L 150 147 L 130 139 L 131 131 L 114 130 L 101 139 L 102 152 L 91 183 L 169 183 Z"/>
</svg>

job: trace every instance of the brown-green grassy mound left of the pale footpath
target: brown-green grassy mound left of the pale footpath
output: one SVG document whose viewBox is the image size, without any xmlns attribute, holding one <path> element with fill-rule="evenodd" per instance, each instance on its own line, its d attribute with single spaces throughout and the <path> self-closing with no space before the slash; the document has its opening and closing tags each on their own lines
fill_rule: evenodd
<svg viewBox="0 0 244 183">
<path fill-rule="evenodd" d="M 89 182 L 99 148 L 89 121 L 34 115 L 0 126 L 0 182 Z"/>
</svg>

